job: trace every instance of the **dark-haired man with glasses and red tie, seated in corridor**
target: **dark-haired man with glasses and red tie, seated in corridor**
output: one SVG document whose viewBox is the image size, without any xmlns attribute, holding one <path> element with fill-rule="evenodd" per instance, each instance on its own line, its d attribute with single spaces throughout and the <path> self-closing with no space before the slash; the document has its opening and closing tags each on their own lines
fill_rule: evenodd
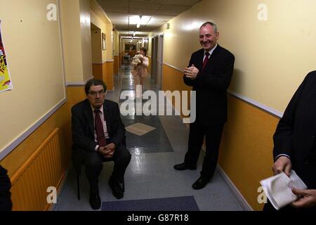
<svg viewBox="0 0 316 225">
<path fill-rule="evenodd" d="M 86 100 L 72 107 L 72 160 L 77 173 L 81 163 L 86 167 L 90 184 L 89 202 L 93 210 L 100 208 L 98 176 L 103 162 L 114 160 L 114 169 L 109 179 L 115 198 L 124 196 L 120 183 L 124 180 L 131 154 L 126 149 L 125 127 L 121 122 L 119 105 L 105 100 L 107 87 L 98 79 L 85 85 Z"/>
</svg>

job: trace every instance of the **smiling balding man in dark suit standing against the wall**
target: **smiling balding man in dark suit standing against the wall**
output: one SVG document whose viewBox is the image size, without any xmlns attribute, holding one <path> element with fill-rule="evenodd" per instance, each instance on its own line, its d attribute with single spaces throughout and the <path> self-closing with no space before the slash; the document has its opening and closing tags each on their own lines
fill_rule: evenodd
<svg viewBox="0 0 316 225">
<path fill-rule="evenodd" d="M 174 169 L 197 169 L 197 160 L 206 141 L 206 155 L 201 176 L 194 189 L 206 186 L 215 172 L 220 138 L 227 122 L 227 89 L 234 70 L 235 57 L 217 44 L 219 33 L 214 23 L 206 22 L 199 28 L 199 42 L 203 49 L 192 53 L 184 70 L 183 80 L 196 91 L 195 122 L 190 124 L 188 149 L 183 163 Z M 192 110 L 192 109 L 191 109 Z"/>
</svg>

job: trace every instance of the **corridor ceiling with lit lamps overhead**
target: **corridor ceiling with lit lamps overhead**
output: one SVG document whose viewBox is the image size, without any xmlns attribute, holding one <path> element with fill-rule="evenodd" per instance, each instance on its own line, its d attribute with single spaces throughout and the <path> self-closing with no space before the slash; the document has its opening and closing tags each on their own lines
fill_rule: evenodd
<svg viewBox="0 0 316 225">
<path fill-rule="evenodd" d="M 173 17 L 202 0 L 97 0 L 103 11 L 110 18 L 115 28 L 121 35 L 131 35 L 136 31 L 136 36 L 145 37 L 150 32 L 161 27 Z M 131 24 L 132 16 L 149 16 L 146 25 Z"/>
</svg>

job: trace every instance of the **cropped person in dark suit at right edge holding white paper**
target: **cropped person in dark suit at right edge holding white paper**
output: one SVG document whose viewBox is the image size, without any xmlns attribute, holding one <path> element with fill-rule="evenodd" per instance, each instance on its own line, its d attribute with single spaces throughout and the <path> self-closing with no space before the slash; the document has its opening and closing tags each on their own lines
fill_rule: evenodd
<svg viewBox="0 0 316 225">
<path fill-rule="evenodd" d="M 291 169 L 308 190 L 292 189 L 298 200 L 281 210 L 316 210 L 316 71 L 310 72 L 291 98 L 273 136 L 272 170 L 289 176 Z M 274 210 L 270 203 L 264 210 Z"/>
</svg>

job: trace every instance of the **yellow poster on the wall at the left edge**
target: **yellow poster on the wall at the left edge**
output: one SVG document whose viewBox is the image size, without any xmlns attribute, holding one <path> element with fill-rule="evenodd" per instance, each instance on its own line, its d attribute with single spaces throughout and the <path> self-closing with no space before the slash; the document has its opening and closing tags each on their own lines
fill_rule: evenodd
<svg viewBox="0 0 316 225">
<path fill-rule="evenodd" d="M 13 89 L 8 64 L 6 63 L 6 51 L 2 42 L 1 20 L 0 20 L 0 92 Z"/>
</svg>

